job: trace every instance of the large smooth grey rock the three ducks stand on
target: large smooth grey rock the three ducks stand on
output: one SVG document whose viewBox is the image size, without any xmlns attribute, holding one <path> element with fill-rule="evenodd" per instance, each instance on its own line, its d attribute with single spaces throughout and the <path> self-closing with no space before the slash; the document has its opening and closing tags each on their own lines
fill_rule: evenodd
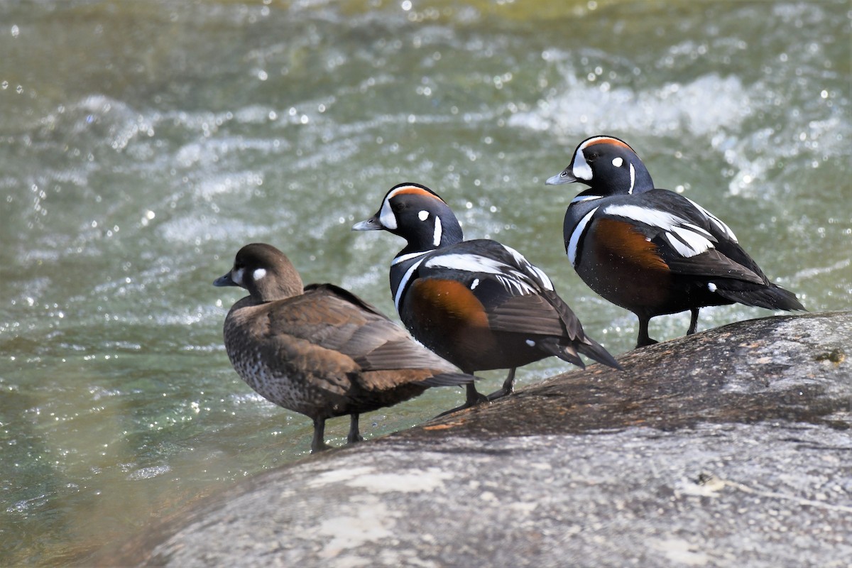
<svg viewBox="0 0 852 568">
<path fill-rule="evenodd" d="M 645 347 L 264 473 L 105 565 L 852 565 L 852 312 Z"/>
</svg>

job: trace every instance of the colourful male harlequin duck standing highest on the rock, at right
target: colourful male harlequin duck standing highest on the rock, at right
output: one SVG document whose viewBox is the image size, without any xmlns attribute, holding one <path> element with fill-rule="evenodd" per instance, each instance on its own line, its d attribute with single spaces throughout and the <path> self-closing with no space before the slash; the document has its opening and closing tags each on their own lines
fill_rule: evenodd
<svg viewBox="0 0 852 568">
<path fill-rule="evenodd" d="M 545 183 L 580 181 L 590 189 L 573 198 L 563 236 L 580 278 L 608 301 L 636 313 L 636 347 L 654 316 L 689 310 L 687 334 L 699 308 L 746 306 L 803 310 L 792 294 L 769 282 L 734 232 L 694 201 L 655 189 L 633 149 L 613 136 L 593 136 L 571 164 Z"/>
</svg>

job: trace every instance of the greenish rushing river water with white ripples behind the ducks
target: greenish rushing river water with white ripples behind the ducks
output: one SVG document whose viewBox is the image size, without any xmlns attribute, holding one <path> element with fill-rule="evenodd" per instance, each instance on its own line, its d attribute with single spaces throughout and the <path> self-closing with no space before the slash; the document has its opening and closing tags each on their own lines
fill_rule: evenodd
<svg viewBox="0 0 852 568">
<path fill-rule="evenodd" d="M 217 289 L 266 241 L 387 313 L 401 181 L 542 267 L 591 336 L 636 318 L 573 273 L 545 187 L 630 142 L 811 311 L 849 308 L 849 3 L 0 4 L 0 565 L 61 565 L 305 456 L 310 422 L 233 372 Z M 770 313 L 705 309 L 700 329 Z M 395 314 L 394 314 L 395 315 Z M 658 318 L 681 335 L 688 316 Z M 521 385 L 570 370 L 557 359 Z M 483 373 L 497 387 L 503 374 Z M 365 416 L 367 437 L 463 399 Z M 331 421 L 340 444 L 348 421 Z"/>
</svg>

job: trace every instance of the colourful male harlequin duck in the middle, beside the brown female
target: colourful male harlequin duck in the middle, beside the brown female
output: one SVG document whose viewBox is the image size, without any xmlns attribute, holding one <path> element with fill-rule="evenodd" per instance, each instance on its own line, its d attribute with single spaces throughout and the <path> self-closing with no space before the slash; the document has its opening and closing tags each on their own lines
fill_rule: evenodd
<svg viewBox="0 0 852 568">
<path fill-rule="evenodd" d="M 352 229 L 383 229 L 408 242 L 391 263 L 390 289 L 417 340 L 465 373 L 509 369 L 488 397 L 469 383 L 465 406 L 511 393 L 516 367 L 550 355 L 584 367 L 583 353 L 620 368 L 584 334 L 544 272 L 503 244 L 464 241 L 456 215 L 428 187 L 394 186 L 378 213 Z"/>
</svg>

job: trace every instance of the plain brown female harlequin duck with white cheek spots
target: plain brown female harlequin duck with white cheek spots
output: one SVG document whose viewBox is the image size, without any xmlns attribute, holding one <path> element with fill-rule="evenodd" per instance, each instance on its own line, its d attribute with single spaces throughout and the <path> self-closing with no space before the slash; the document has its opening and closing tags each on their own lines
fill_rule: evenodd
<svg viewBox="0 0 852 568">
<path fill-rule="evenodd" d="M 314 421 L 311 450 L 325 450 L 325 419 L 350 415 L 347 440 L 360 441 L 358 415 L 397 404 L 427 387 L 474 377 L 417 344 L 375 307 L 333 284 L 308 284 L 269 244 L 247 244 L 213 283 L 248 296 L 225 318 L 225 347 L 250 387 Z"/>
</svg>

